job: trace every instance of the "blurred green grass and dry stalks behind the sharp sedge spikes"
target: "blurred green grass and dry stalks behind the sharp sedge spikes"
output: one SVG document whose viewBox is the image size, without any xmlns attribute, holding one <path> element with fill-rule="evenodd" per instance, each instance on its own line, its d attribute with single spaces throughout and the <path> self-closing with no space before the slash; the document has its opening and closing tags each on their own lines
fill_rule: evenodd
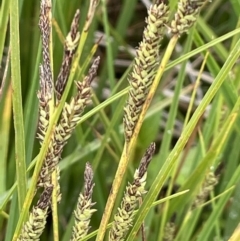
<svg viewBox="0 0 240 241">
<path fill-rule="evenodd" d="M 36 140 L 36 94 L 42 59 L 38 28 L 40 4 L 39 1 L 19 0 L 19 19 L 15 20 L 16 23 L 19 21 L 20 42 L 14 43 L 16 48 L 11 52 L 20 49 L 20 62 L 16 68 L 20 67 L 17 77 L 21 80 L 22 104 L 20 110 L 13 112 L 15 93 L 11 87 L 9 43 L 14 36 L 9 27 L 9 13 L 14 1 L 0 2 L 0 240 L 10 241 L 20 212 L 17 189 L 13 188 L 19 168 L 16 167 L 16 145 L 23 144 L 25 151 L 22 155 L 27 167 L 40 149 Z M 169 1 L 171 16 L 177 2 Z M 91 220 L 90 233 L 99 227 L 123 149 L 122 117 L 129 85 L 127 79 L 135 48 L 142 40 L 150 3 L 148 0 L 102 0 L 96 10 L 79 63 L 83 66 L 93 45 L 98 42 L 95 55 L 99 55 L 101 61 L 98 76 L 93 82 L 92 105 L 85 110 L 84 121 L 68 141 L 60 162 L 62 201 L 58 207 L 58 220 L 59 239 L 62 241 L 71 236 L 73 209 L 83 188 L 87 161 L 94 170 L 93 201 L 97 209 Z M 64 36 L 69 31 L 74 13 L 76 9 L 81 10 L 81 32 L 88 5 L 89 1 L 81 0 L 53 1 L 54 76 L 57 76 L 61 65 Z M 158 200 L 178 191 L 189 191 L 171 201 L 167 198 L 164 204 L 152 206 L 145 218 L 146 240 L 240 240 L 240 231 L 236 229 L 240 222 L 239 13 L 240 1 L 214 0 L 207 3 L 197 23 L 188 34 L 179 38 L 147 112 L 114 212 L 124 187 L 132 181 L 135 168 L 153 141 L 156 152 L 148 170 L 147 190 L 151 187 L 158 193 Z M 165 53 L 170 38 L 166 28 L 160 53 Z M 219 85 L 210 89 L 213 83 Z M 73 94 L 74 88 L 69 96 Z M 201 112 L 197 107 L 206 99 L 210 103 Z M 13 119 L 21 108 L 23 122 L 20 130 L 16 130 Z M 189 136 L 186 126 L 191 124 L 189 120 L 194 119 L 194 115 L 199 115 L 199 120 L 192 123 L 193 131 Z M 23 135 L 19 137 L 21 131 Z M 176 145 L 181 142 L 179 138 L 189 138 L 182 150 Z M 176 162 L 171 161 L 174 154 Z M 217 169 L 219 165 L 221 168 Z M 192 210 L 201 188 L 206 188 L 208 173 L 219 169 L 216 174 L 218 183 L 209 189 L 208 197 L 203 200 L 205 204 Z M 160 170 L 163 170 L 160 180 L 163 188 L 156 186 Z M 23 174 L 23 178 L 29 181 L 31 176 L 32 170 Z M 151 195 L 146 198 L 153 204 Z M 168 229 L 170 226 L 173 230 Z M 167 239 L 166 234 L 171 235 L 171 232 L 173 238 Z M 50 215 L 41 240 L 53 240 L 53 236 Z M 128 238 L 132 240 L 131 235 Z M 135 239 L 141 240 L 141 234 Z"/>
</svg>

